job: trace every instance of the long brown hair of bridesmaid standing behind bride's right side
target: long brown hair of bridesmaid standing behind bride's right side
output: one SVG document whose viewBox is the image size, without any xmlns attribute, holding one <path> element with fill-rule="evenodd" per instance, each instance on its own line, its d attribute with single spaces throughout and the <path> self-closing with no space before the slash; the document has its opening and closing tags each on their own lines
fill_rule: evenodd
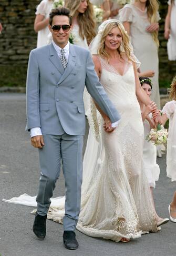
<svg viewBox="0 0 176 256">
<path fill-rule="evenodd" d="M 138 0 L 135 0 L 135 2 L 138 2 Z M 147 7 L 147 15 L 149 18 L 149 22 L 151 23 L 158 22 L 158 11 L 159 11 L 158 0 L 147 0 L 146 7 Z M 154 42 L 159 47 L 158 31 L 154 31 L 152 33 L 152 37 Z"/>
</svg>

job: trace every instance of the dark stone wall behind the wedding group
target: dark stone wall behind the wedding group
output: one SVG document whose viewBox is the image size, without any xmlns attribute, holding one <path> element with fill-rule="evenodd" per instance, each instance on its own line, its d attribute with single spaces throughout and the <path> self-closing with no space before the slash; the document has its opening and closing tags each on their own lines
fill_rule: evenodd
<svg viewBox="0 0 176 256">
<path fill-rule="evenodd" d="M 30 50 L 36 47 L 34 32 L 35 8 L 40 0 L 0 0 L 0 86 L 25 86 Z M 168 62 L 167 41 L 164 40 L 164 18 L 167 0 L 160 4 L 160 85 L 169 84 L 176 74 L 176 62 Z"/>
</svg>

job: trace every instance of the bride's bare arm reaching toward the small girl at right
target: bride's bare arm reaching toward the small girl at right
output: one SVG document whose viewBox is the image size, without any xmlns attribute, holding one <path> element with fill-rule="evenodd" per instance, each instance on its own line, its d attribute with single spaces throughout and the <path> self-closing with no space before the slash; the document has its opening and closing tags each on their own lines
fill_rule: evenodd
<svg viewBox="0 0 176 256">
<path fill-rule="evenodd" d="M 136 96 L 138 97 L 140 102 L 142 102 L 144 105 L 147 106 L 151 103 L 150 97 L 142 89 L 142 86 L 139 81 L 136 63 L 133 63 L 133 68 L 134 68 L 134 75 L 135 75 L 135 81 L 136 81 Z M 152 107 L 151 112 L 153 114 L 153 117 L 156 117 L 159 114 L 159 111 L 156 107 L 156 103 L 152 102 L 150 105 Z"/>
</svg>

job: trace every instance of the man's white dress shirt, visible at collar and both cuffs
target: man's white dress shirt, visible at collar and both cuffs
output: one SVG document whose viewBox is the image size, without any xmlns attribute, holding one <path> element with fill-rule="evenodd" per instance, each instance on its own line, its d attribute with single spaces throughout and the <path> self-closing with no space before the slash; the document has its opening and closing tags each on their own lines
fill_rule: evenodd
<svg viewBox="0 0 176 256">
<path fill-rule="evenodd" d="M 54 41 L 53 41 L 52 43 L 53 43 L 53 46 L 55 47 L 55 50 L 56 50 L 56 52 L 57 52 L 57 54 L 58 54 L 58 57 L 60 58 L 60 54 L 61 54 L 60 51 L 61 51 L 61 48 L 60 48 L 57 44 L 55 44 Z M 70 50 L 70 43 L 69 43 L 69 42 L 68 42 L 67 45 L 64 47 L 64 50 L 65 50 L 65 56 L 66 56 L 67 61 L 68 61 L 69 50 Z M 119 122 L 119 121 L 117 121 L 117 122 L 115 122 L 115 123 L 112 123 L 111 126 L 112 126 L 113 128 L 117 127 L 118 122 Z M 41 131 L 40 127 L 31 128 L 31 129 L 30 129 L 30 137 L 34 137 L 34 136 L 37 136 L 37 135 L 42 135 L 42 131 Z"/>
</svg>

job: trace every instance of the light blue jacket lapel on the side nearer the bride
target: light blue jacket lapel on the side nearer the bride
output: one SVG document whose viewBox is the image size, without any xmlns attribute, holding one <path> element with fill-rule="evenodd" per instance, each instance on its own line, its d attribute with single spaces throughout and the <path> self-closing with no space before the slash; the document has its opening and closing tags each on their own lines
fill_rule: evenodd
<svg viewBox="0 0 176 256">
<path fill-rule="evenodd" d="M 67 64 L 67 67 L 66 67 L 63 75 L 60 77 L 58 84 L 63 82 L 65 80 L 65 78 L 71 73 L 71 71 L 75 67 L 75 63 L 76 63 L 75 49 L 74 49 L 74 46 L 70 44 L 68 64 Z M 62 66 L 61 62 L 60 62 L 60 65 Z"/>
</svg>

